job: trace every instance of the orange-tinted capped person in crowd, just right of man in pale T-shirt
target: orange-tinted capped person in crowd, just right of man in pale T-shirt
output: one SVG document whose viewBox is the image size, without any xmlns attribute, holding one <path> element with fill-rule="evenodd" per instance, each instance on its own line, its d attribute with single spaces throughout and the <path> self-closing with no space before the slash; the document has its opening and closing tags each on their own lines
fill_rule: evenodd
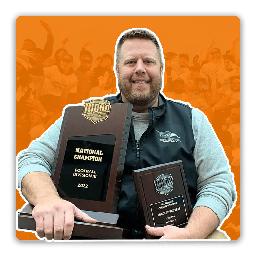
<svg viewBox="0 0 256 256">
<path fill-rule="evenodd" d="M 91 71 L 92 66 L 92 54 L 89 51 L 84 51 L 84 54 L 80 57 L 80 66 L 75 70 L 75 75 L 78 79 L 77 84 L 77 100 L 82 102 L 88 99 L 89 92 L 91 90 L 91 77 L 94 71 Z"/>
</svg>

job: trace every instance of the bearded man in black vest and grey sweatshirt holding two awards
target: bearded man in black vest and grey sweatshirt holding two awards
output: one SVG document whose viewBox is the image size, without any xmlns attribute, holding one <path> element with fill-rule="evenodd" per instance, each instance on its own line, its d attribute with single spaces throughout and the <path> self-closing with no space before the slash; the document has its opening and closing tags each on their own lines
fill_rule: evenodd
<svg viewBox="0 0 256 256">
<path fill-rule="evenodd" d="M 116 48 L 115 68 L 121 94 L 106 98 L 112 104 L 130 102 L 134 105 L 117 211 L 122 216 L 120 225 L 130 229 L 132 238 L 145 237 L 131 170 L 182 159 L 194 207 L 188 225 L 186 228 L 146 226 L 146 231 L 161 239 L 204 239 L 218 227 L 235 199 L 227 161 L 201 113 L 188 105 L 165 100 L 159 94 L 164 63 L 156 36 L 145 29 L 125 32 Z M 60 126 L 61 122 L 55 124 L 44 135 L 44 142 L 34 143 L 29 151 L 20 154 L 19 160 L 19 186 L 35 205 L 32 215 L 38 235 L 48 239 L 70 238 L 74 217 L 96 222 L 62 200 L 50 179 Z M 157 131 L 167 129 L 184 143 L 159 140 Z M 46 141 L 45 146 L 37 144 Z M 29 156 L 36 148 L 40 148 L 40 152 L 34 157 L 41 159 L 40 164 Z M 35 170 L 37 172 L 33 172 Z"/>
</svg>

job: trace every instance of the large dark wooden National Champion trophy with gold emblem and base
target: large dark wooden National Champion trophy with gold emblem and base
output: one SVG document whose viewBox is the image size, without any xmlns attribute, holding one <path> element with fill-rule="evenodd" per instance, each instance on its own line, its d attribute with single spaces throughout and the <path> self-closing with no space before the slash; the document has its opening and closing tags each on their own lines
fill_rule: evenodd
<svg viewBox="0 0 256 256">
<path fill-rule="evenodd" d="M 97 220 L 75 220 L 72 235 L 90 239 L 125 239 L 116 214 L 132 116 L 132 104 L 103 99 L 65 109 L 52 169 L 57 191 Z M 36 230 L 33 206 L 18 213 L 18 228 Z"/>
</svg>

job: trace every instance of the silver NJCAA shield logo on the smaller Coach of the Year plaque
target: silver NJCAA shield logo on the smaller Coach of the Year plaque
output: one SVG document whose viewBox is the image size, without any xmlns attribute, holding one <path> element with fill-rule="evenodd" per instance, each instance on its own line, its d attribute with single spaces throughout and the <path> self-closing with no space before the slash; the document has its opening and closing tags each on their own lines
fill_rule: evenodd
<svg viewBox="0 0 256 256">
<path fill-rule="evenodd" d="M 161 174 L 154 180 L 156 192 L 168 195 L 173 189 L 173 178 L 169 173 Z"/>
</svg>

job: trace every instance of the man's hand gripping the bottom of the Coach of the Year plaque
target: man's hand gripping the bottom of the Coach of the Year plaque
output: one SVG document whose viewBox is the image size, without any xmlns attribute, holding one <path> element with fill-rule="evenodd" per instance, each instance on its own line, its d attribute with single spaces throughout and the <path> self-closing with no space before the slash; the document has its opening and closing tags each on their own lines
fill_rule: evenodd
<svg viewBox="0 0 256 256">
<path fill-rule="evenodd" d="M 161 236 L 159 240 L 161 239 L 192 239 L 189 237 L 189 234 L 187 233 L 187 230 L 185 228 L 178 228 L 175 226 L 164 226 L 164 227 L 150 227 L 146 225 L 146 231 L 148 234 L 153 236 Z"/>
</svg>

